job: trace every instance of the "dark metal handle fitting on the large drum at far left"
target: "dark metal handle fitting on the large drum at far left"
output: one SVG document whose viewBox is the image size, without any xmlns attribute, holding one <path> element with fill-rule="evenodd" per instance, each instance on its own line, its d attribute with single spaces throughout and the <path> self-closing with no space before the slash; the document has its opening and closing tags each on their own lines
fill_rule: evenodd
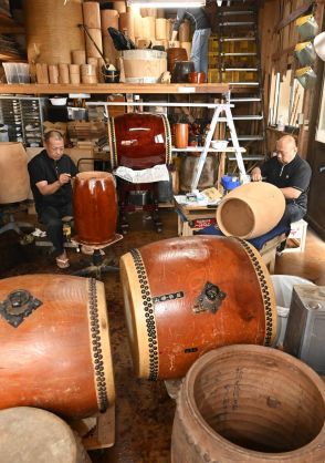
<svg viewBox="0 0 325 463">
<path fill-rule="evenodd" d="M 28 290 L 15 289 L 3 302 L 0 302 L 0 315 L 8 323 L 17 328 L 41 305 L 42 301 L 34 298 Z"/>
</svg>

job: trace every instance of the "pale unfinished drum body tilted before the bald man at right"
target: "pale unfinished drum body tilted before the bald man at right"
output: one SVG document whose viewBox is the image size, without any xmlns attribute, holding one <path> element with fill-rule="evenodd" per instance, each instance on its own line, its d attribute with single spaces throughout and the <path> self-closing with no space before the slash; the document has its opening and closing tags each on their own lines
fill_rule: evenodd
<svg viewBox="0 0 325 463">
<path fill-rule="evenodd" d="M 281 220 L 285 199 L 280 188 L 252 182 L 234 188 L 217 208 L 217 223 L 226 236 L 250 239 L 264 235 Z"/>
</svg>

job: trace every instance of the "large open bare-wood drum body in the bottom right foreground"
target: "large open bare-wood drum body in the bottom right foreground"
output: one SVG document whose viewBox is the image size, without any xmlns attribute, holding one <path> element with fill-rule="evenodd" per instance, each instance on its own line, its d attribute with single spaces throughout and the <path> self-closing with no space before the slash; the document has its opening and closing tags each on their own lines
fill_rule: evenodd
<svg viewBox="0 0 325 463">
<path fill-rule="evenodd" d="M 261 346 L 200 358 L 177 399 L 171 463 L 325 461 L 325 387 L 300 360 Z"/>
</svg>

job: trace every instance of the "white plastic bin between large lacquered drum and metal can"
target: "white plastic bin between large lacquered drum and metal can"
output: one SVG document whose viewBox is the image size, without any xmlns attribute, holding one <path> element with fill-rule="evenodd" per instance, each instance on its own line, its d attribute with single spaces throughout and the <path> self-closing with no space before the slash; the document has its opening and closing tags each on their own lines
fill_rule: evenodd
<svg viewBox="0 0 325 463">
<path fill-rule="evenodd" d="M 295 277 L 293 275 L 271 275 L 271 278 L 272 278 L 273 288 L 275 292 L 275 301 L 276 301 L 276 310 L 277 310 L 276 337 L 274 339 L 272 347 L 279 348 L 283 346 L 294 285 L 314 285 L 314 284 L 305 278 Z"/>
</svg>

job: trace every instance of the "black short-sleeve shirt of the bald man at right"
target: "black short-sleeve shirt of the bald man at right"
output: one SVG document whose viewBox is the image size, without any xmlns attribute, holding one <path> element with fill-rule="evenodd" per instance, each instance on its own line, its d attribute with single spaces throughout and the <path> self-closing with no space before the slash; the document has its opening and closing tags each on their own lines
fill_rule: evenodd
<svg viewBox="0 0 325 463">
<path fill-rule="evenodd" d="M 282 164 L 276 156 L 271 157 L 261 166 L 262 177 L 279 188 L 296 188 L 302 193 L 296 199 L 286 199 L 286 203 L 296 203 L 307 209 L 307 193 L 312 177 L 310 164 L 297 154 L 289 164 Z"/>
</svg>

